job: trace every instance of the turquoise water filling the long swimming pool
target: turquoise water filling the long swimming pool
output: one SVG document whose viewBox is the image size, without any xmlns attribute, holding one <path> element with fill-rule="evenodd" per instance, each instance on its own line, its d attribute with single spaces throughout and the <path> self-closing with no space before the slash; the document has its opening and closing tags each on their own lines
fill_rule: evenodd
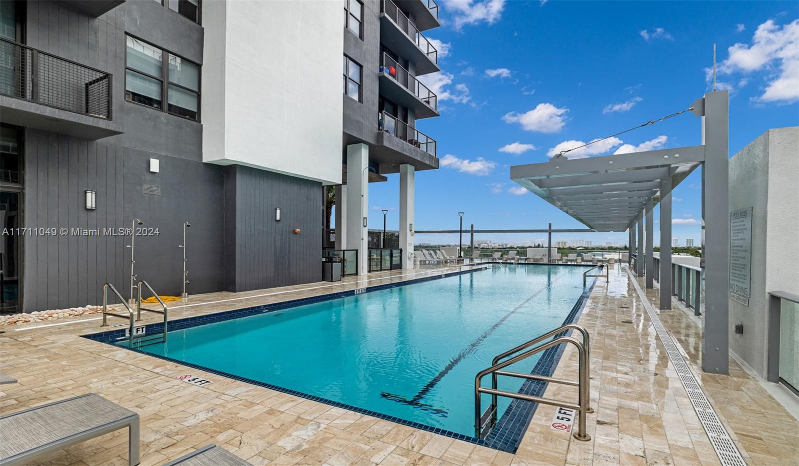
<svg viewBox="0 0 799 466">
<path fill-rule="evenodd" d="M 492 267 L 176 330 L 142 350 L 473 436 L 475 374 L 561 325 L 587 269 Z M 507 390 L 521 384 L 500 379 Z"/>
</svg>

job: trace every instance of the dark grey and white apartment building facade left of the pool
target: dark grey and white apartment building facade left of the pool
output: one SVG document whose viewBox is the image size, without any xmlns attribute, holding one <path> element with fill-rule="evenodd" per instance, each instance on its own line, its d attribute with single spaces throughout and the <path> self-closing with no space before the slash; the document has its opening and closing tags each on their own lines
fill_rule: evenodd
<svg viewBox="0 0 799 466">
<path fill-rule="evenodd" d="M 129 297 L 133 239 L 136 278 L 179 295 L 185 223 L 189 293 L 319 281 L 323 193 L 351 152 L 356 174 L 411 173 L 412 218 L 413 171 L 438 166 L 415 131 L 435 95 L 419 98 L 414 34 L 381 68 L 402 30 L 381 31 L 438 23 L 421 0 L 394 23 L 383 5 L 2 0 L 2 311 L 98 304 L 104 283 Z"/>
</svg>

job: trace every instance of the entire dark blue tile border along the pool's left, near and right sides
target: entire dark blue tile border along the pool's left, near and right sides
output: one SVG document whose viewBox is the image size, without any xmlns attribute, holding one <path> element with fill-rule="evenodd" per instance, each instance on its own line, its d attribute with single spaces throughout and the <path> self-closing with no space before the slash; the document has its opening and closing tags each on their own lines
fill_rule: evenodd
<svg viewBox="0 0 799 466">
<path fill-rule="evenodd" d="M 484 269 L 486 269 L 486 268 L 483 267 L 483 268 L 474 268 L 474 269 L 470 269 L 470 270 L 460 270 L 458 272 L 443 273 L 443 274 L 429 276 L 429 277 L 421 277 L 421 278 L 413 279 L 413 280 L 409 280 L 409 281 L 401 281 L 401 282 L 385 284 L 385 285 L 376 285 L 376 286 L 368 287 L 366 289 L 352 289 L 352 290 L 348 290 L 346 292 L 329 293 L 329 294 L 326 294 L 326 295 L 320 295 L 318 297 L 302 298 L 302 299 L 299 299 L 299 300 L 291 300 L 291 301 L 281 301 L 281 302 L 273 303 L 273 304 L 270 304 L 270 305 L 259 305 L 259 306 L 253 306 L 252 308 L 235 309 L 233 311 L 223 311 L 221 313 L 208 314 L 208 316 L 220 317 L 220 318 L 214 319 L 213 321 L 208 321 L 208 322 L 201 321 L 201 320 L 197 319 L 197 317 L 206 317 L 206 316 L 187 317 L 185 319 L 180 319 L 180 320 L 177 320 L 177 321 L 169 321 L 169 331 L 178 330 L 178 329 L 184 329 L 184 328 L 189 328 L 189 327 L 195 327 L 197 325 L 205 325 L 205 324 L 209 324 L 209 323 L 213 323 L 213 322 L 217 322 L 217 321 L 227 321 L 229 319 L 234 319 L 234 318 L 238 318 L 238 317 L 245 317 L 246 315 L 256 315 L 256 314 L 260 314 L 260 313 L 272 312 L 272 311 L 276 311 L 276 310 L 280 310 L 280 309 L 286 309 L 286 308 L 289 308 L 289 307 L 295 307 L 295 306 L 298 306 L 298 305 L 311 304 L 312 302 L 329 301 L 329 300 L 337 299 L 337 298 L 340 298 L 340 297 L 348 297 L 348 296 L 352 296 L 352 295 L 355 295 L 355 294 L 378 291 L 380 289 L 389 289 L 389 288 L 394 288 L 396 286 L 401 286 L 401 285 L 411 285 L 412 283 L 420 283 L 420 282 L 423 282 L 423 281 L 431 281 L 431 280 L 437 280 L 437 279 L 441 279 L 441 278 L 454 277 L 454 276 L 457 276 L 457 275 L 464 275 L 464 274 L 467 274 L 467 273 L 473 273 L 473 272 L 476 272 L 476 271 L 479 271 L 479 270 L 484 270 Z M 582 313 L 582 309 L 585 307 L 586 298 L 590 295 L 591 291 L 594 289 L 594 284 L 595 283 L 596 283 L 596 279 L 594 279 L 594 282 L 590 285 L 589 288 L 587 288 L 586 290 L 583 290 L 583 293 L 578 298 L 577 303 L 574 304 L 574 307 L 571 309 L 570 313 L 566 316 L 566 320 L 563 321 L 563 325 L 568 324 L 568 323 L 572 323 L 572 322 L 576 322 L 578 320 L 580 314 Z M 265 309 L 267 307 L 269 309 Z M 240 311 L 245 311 L 245 310 L 248 310 L 248 309 L 258 309 L 258 310 L 249 311 L 247 314 L 240 313 Z M 180 326 L 180 327 L 177 327 L 177 328 L 176 328 L 175 325 L 173 325 L 173 322 L 177 323 L 177 322 L 186 322 L 186 321 L 189 321 L 189 322 L 187 322 L 187 324 L 190 324 L 190 325 L 183 325 L 183 326 Z M 146 329 L 145 333 L 149 333 L 150 330 L 160 332 L 162 327 L 163 327 L 163 323 L 161 323 L 161 322 L 159 322 L 157 324 L 145 325 L 145 329 Z M 563 334 L 566 334 L 566 333 L 563 333 Z M 559 336 L 561 336 L 561 334 L 557 335 L 556 337 L 559 337 Z M 105 343 L 107 345 L 113 345 L 113 346 L 115 346 L 117 348 L 120 348 L 120 346 L 115 345 L 115 343 L 117 343 L 120 340 L 124 340 L 125 339 L 125 329 L 117 329 L 117 330 L 111 330 L 111 331 L 108 331 L 108 332 L 101 332 L 101 333 L 92 333 L 92 334 L 88 334 L 88 335 L 81 335 L 81 337 L 88 338 L 89 340 Z M 446 429 L 443 429 L 443 428 L 435 428 L 435 427 L 429 426 L 427 424 L 421 424 L 419 422 L 415 422 L 415 421 L 412 421 L 412 420 L 401 419 L 399 417 L 390 416 L 390 415 L 384 414 L 382 412 L 376 412 L 376 411 L 372 411 L 372 410 L 369 410 L 369 409 L 359 408 L 359 407 L 353 406 L 351 404 L 344 404 L 344 403 L 340 403 L 339 401 L 328 400 L 326 398 L 322 398 L 320 396 L 310 395 L 310 394 L 304 393 L 304 392 L 297 392 L 296 390 L 292 390 L 290 388 L 284 388 L 284 387 L 280 387 L 280 386 L 277 386 L 277 385 L 268 384 L 266 382 L 261 382 L 260 380 L 248 379 L 246 377 L 237 376 L 237 375 L 231 374 L 229 372 L 222 372 L 222 371 L 218 371 L 216 369 L 206 368 L 205 366 L 201 366 L 200 364 L 193 364 L 193 363 L 190 363 L 190 362 L 187 362 L 187 361 L 184 361 L 184 360 L 173 359 L 173 358 L 171 358 L 169 356 L 161 356 L 161 355 L 153 354 L 153 353 L 150 353 L 150 352 L 145 352 L 145 351 L 142 351 L 141 349 L 137 349 L 137 348 L 129 348 L 129 347 L 122 347 L 122 348 L 128 349 L 129 351 L 138 352 L 138 353 L 146 355 L 146 356 L 157 357 L 158 359 L 166 360 L 166 361 L 171 362 L 173 364 L 178 364 L 178 365 L 189 367 L 189 368 L 195 368 L 197 370 L 201 370 L 201 371 L 204 371 L 204 372 L 212 373 L 212 374 L 217 375 L 217 376 L 223 376 L 225 378 L 238 380 L 238 381 L 244 382 L 246 384 L 252 384 L 252 385 L 256 385 L 256 386 L 262 387 L 262 388 L 269 388 L 270 390 L 274 390 L 276 392 L 281 392 L 281 393 L 286 393 L 286 394 L 292 395 L 292 396 L 298 396 L 300 398 L 304 398 L 305 400 L 317 401 L 319 403 L 328 404 L 328 405 L 336 407 L 336 408 L 347 409 L 348 411 L 358 412 L 359 414 L 364 414 L 366 416 L 372 416 L 372 417 L 376 417 L 378 419 L 388 420 L 388 421 L 391 421 L 391 422 L 395 422 L 397 424 L 406 425 L 406 426 L 411 427 L 411 428 L 418 428 L 419 430 L 432 432 L 432 433 L 435 433 L 435 434 L 438 434 L 438 435 L 442 435 L 442 436 L 447 436 L 447 437 L 450 437 L 450 438 L 455 439 L 455 440 L 463 440 L 463 441 L 469 442 L 471 444 L 477 444 L 477 445 L 481 445 L 481 446 L 487 447 L 487 448 L 495 448 L 497 450 L 500 450 L 500 451 L 503 451 L 503 452 L 509 452 L 509 453 L 515 453 L 516 450 L 519 448 L 519 443 L 522 440 L 524 432 L 527 431 L 527 426 L 530 424 L 533 416 L 535 415 L 535 408 L 538 407 L 537 403 L 529 403 L 527 401 L 522 401 L 522 402 L 517 403 L 517 400 L 514 400 L 513 402 L 511 402 L 511 406 L 509 406 L 507 408 L 507 410 L 503 414 L 502 418 L 500 418 L 500 420 L 497 423 L 497 427 L 494 428 L 494 430 L 491 432 L 491 434 L 488 436 L 488 438 L 485 439 L 485 440 L 479 440 L 479 439 L 475 438 L 474 436 L 466 436 L 466 435 L 463 435 L 463 434 L 458 433 L 458 432 L 452 432 L 452 431 L 449 431 L 449 430 L 446 430 Z M 562 355 L 562 352 L 563 352 L 562 345 L 560 345 L 560 347 L 558 349 L 552 348 L 552 349 L 547 349 L 546 351 L 544 351 L 542 356 L 541 356 L 541 359 L 539 360 L 539 362 L 535 364 L 535 367 L 533 368 L 532 373 L 541 373 L 541 372 L 539 372 L 539 370 L 543 370 L 544 367 L 546 366 L 547 373 L 545 373 L 544 375 L 551 376 L 552 372 L 555 372 L 555 367 L 557 367 L 557 365 L 558 365 L 558 362 L 560 360 L 560 356 Z M 547 359 L 548 355 L 550 357 Z M 551 362 L 549 362 L 548 364 L 542 364 L 542 361 L 544 361 L 545 359 L 550 360 Z M 541 366 L 541 367 L 539 368 L 539 366 Z M 528 385 L 528 382 L 534 382 L 534 381 L 533 380 L 527 380 L 522 385 L 522 388 L 519 388 L 519 392 L 527 392 L 525 390 L 526 390 L 526 387 Z M 537 383 L 540 384 L 540 382 L 537 382 Z M 547 384 L 543 384 L 543 386 L 540 387 L 540 388 L 539 387 L 533 387 L 533 391 L 531 391 L 531 394 L 537 395 L 537 396 L 541 396 L 541 394 L 543 394 L 543 392 L 546 389 L 546 387 L 547 387 Z M 527 388 L 527 390 L 530 390 L 530 388 Z M 521 404 L 521 403 L 531 404 L 532 406 L 528 406 L 527 409 L 524 409 L 524 410 L 523 410 L 523 407 L 522 408 L 515 408 L 515 406 L 514 406 L 515 404 Z M 513 409 L 514 411 L 511 412 L 511 409 Z M 511 413 L 511 416 L 509 416 L 509 413 Z"/>
</svg>

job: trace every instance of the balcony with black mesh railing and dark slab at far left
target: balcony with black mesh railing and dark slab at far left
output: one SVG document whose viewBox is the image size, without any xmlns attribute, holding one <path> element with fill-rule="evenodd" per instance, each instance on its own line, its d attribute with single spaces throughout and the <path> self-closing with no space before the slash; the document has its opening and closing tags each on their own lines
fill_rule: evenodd
<svg viewBox="0 0 799 466">
<path fill-rule="evenodd" d="M 120 134 L 111 89 L 108 73 L 0 39 L 3 121 L 86 139 Z"/>
</svg>

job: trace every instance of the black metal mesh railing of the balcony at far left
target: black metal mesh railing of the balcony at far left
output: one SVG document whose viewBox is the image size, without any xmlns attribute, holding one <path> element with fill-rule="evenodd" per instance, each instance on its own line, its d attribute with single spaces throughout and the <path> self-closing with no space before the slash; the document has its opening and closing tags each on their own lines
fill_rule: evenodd
<svg viewBox="0 0 799 466">
<path fill-rule="evenodd" d="M 111 75 L 0 38 L 0 94 L 111 118 Z"/>
</svg>

